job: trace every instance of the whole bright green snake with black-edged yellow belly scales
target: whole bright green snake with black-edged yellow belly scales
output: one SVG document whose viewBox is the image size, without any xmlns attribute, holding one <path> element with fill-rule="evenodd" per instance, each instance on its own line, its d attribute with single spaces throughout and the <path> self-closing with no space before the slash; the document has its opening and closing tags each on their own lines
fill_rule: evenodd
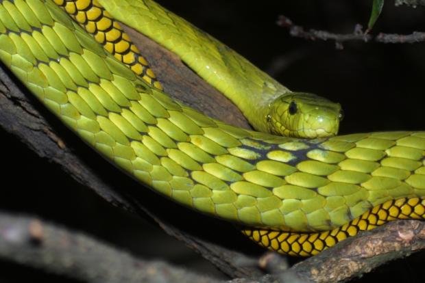
<svg viewBox="0 0 425 283">
<path fill-rule="evenodd" d="M 0 59 L 84 142 L 141 183 L 241 224 L 260 245 L 298 256 L 387 221 L 425 217 L 424 132 L 321 137 L 337 132 L 339 105 L 289 92 L 156 3 L 55 2 L 0 1 Z M 196 62 L 189 66 L 232 100 L 245 91 L 265 100 L 255 111 L 244 108 L 252 102 L 239 104 L 258 115 L 250 120 L 256 129 L 300 134 L 301 127 L 317 138 L 239 129 L 172 100 L 112 16 L 129 25 L 140 16 L 140 29 L 152 38 L 166 25 L 170 33 L 162 37 L 173 46 L 181 31 L 208 40 L 202 45 L 212 61 L 223 54 L 226 60 L 207 65 L 213 75 L 202 75 Z"/>
</svg>

